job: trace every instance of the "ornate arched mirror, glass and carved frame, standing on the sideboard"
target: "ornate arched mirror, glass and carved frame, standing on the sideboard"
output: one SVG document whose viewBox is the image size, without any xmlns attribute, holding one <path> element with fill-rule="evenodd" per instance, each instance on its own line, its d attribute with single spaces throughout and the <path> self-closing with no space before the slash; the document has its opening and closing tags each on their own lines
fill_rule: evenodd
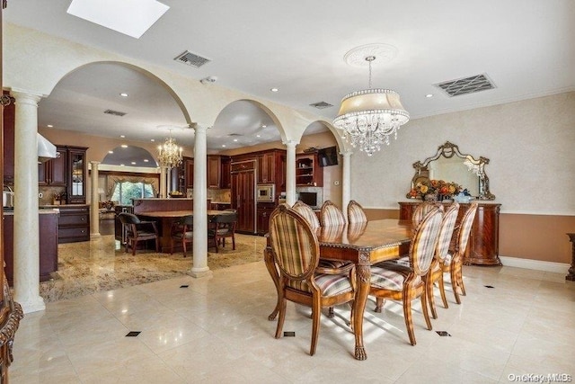
<svg viewBox="0 0 575 384">
<path fill-rule="evenodd" d="M 438 147 L 438 153 L 423 162 L 413 163 L 415 175 L 411 179 L 411 190 L 418 183 L 429 183 L 430 180 L 444 180 L 457 183 L 462 190 L 467 190 L 476 200 L 494 200 L 495 196 L 489 190 L 489 177 L 485 174 L 485 165 L 489 159 L 480 156 L 475 159 L 471 155 L 459 152 L 459 147 L 446 141 Z M 413 196 L 408 193 L 408 198 Z"/>
</svg>

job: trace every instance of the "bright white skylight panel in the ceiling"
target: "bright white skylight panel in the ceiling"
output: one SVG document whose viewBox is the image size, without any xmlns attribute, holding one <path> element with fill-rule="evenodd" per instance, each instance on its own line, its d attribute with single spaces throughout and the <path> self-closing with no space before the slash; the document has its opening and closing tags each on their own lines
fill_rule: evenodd
<svg viewBox="0 0 575 384">
<path fill-rule="evenodd" d="M 67 13 L 139 39 L 168 9 L 156 0 L 73 0 Z"/>
</svg>

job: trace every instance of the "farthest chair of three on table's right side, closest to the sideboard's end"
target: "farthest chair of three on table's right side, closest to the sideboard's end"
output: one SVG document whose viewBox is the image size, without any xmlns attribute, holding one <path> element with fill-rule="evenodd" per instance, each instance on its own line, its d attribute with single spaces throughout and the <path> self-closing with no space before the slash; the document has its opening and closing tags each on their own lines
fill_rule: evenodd
<svg viewBox="0 0 575 384">
<path fill-rule="evenodd" d="M 465 212 L 464 218 L 461 220 L 459 231 L 457 232 L 456 249 L 453 253 L 448 253 L 443 265 L 443 272 L 449 273 L 451 279 L 451 289 L 456 297 L 456 303 L 461 304 L 458 290 L 465 296 L 464 276 L 463 276 L 463 263 L 464 254 L 469 242 L 469 235 L 473 227 L 473 220 L 477 212 L 478 204 L 473 202 L 469 209 Z"/>
</svg>

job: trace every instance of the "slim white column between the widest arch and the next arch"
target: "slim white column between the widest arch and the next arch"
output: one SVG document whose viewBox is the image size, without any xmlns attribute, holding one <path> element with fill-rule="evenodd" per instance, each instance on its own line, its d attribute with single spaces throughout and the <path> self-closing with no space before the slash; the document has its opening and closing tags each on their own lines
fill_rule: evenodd
<svg viewBox="0 0 575 384">
<path fill-rule="evenodd" d="M 193 277 L 211 276 L 208 267 L 208 152 L 206 127 L 197 125 L 194 138 L 194 242 Z"/>
</svg>

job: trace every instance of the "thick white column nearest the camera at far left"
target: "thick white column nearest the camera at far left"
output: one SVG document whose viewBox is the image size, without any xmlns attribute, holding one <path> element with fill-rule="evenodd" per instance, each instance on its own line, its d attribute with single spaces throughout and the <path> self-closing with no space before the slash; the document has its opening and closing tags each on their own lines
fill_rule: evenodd
<svg viewBox="0 0 575 384">
<path fill-rule="evenodd" d="M 24 313 L 46 309 L 40 297 L 38 218 L 38 102 L 40 94 L 14 92 L 14 299 Z"/>
</svg>

